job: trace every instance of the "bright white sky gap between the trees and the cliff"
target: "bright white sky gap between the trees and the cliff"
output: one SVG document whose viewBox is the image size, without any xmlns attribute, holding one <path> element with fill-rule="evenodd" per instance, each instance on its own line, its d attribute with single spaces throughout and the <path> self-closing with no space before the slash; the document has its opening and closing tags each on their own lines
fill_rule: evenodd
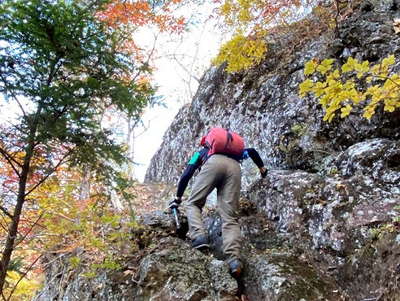
<svg viewBox="0 0 400 301">
<path fill-rule="evenodd" d="M 155 61 L 154 79 L 158 86 L 157 95 L 163 97 L 166 107 L 150 109 L 144 115 L 144 123 L 149 126 L 135 144 L 135 162 L 138 164 L 135 175 L 139 181 L 143 181 L 150 160 L 162 143 L 162 137 L 175 115 L 184 104 L 191 102 L 197 90 L 197 80 L 190 78 L 185 69 L 192 70 L 191 73 L 200 78 L 211 66 L 211 59 L 217 55 L 223 39 L 221 31 L 215 28 L 211 20 L 202 19 L 208 13 L 205 10 L 203 16 L 197 15 L 190 32 L 179 38 L 175 37 L 173 42 L 168 37 L 159 41 L 163 46 Z M 148 37 L 149 33 L 144 32 L 142 42 L 151 43 L 152 40 Z M 138 133 L 142 131 L 143 128 L 137 130 Z"/>
</svg>

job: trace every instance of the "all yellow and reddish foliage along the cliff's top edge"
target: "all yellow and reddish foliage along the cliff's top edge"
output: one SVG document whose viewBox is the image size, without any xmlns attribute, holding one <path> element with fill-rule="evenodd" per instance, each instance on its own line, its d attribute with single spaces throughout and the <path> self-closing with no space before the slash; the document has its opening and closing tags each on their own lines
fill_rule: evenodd
<svg viewBox="0 0 400 301">
<path fill-rule="evenodd" d="M 358 2 L 217 1 L 221 26 L 232 36 L 222 45 L 213 63 L 220 65 L 226 62 L 226 71 L 230 73 L 247 70 L 267 56 L 269 35 L 286 31 L 296 33 L 298 44 L 301 44 L 315 33 L 337 31 L 338 22 L 346 18 Z"/>
</svg>

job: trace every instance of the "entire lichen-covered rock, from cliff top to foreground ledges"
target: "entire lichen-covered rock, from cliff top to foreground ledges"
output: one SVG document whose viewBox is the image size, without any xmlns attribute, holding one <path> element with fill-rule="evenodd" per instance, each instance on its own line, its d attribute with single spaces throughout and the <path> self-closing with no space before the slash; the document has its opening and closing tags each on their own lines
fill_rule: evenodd
<svg viewBox="0 0 400 301">
<path fill-rule="evenodd" d="M 237 300 L 237 291 L 251 301 L 400 300 L 400 112 L 325 123 L 317 101 L 297 91 L 314 57 L 399 59 L 399 9 L 395 0 L 361 1 L 334 40 L 321 36 L 284 57 L 288 37 L 276 37 L 257 68 L 210 69 L 166 132 L 147 182 L 176 184 L 211 126 L 241 133 L 269 169 L 260 179 L 242 164 L 239 282 L 223 261 L 214 210 L 205 216 L 212 254 L 171 236 L 170 216 L 153 212 L 142 223 L 159 234 L 134 268 L 91 280 L 75 272 L 63 282 L 69 272 L 51 265 L 36 300 Z"/>
</svg>

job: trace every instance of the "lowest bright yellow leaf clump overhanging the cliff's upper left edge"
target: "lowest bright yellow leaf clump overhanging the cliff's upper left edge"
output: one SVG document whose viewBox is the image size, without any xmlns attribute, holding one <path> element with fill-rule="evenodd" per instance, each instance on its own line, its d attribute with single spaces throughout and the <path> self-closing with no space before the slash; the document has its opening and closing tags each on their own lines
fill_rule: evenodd
<svg viewBox="0 0 400 301">
<path fill-rule="evenodd" d="M 241 71 L 259 63 L 266 50 L 266 43 L 261 37 L 249 39 L 239 33 L 221 47 L 213 64 L 220 65 L 226 62 L 226 71 Z"/>
</svg>

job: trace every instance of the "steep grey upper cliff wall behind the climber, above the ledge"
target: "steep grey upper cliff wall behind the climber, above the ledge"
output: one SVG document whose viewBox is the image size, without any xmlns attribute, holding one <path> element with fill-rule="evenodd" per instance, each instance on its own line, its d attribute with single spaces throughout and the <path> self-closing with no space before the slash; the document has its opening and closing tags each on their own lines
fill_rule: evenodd
<svg viewBox="0 0 400 301">
<path fill-rule="evenodd" d="M 207 72 L 190 105 L 185 106 L 165 133 L 164 142 L 147 170 L 146 181 L 176 183 L 200 138 L 212 126 L 230 128 L 255 147 L 273 169 L 316 172 L 327 158 L 351 145 L 372 138 L 399 139 L 400 112 L 377 113 L 371 121 L 351 114 L 332 123 L 312 97 L 300 99 L 305 62 L 312 58 L 348 56 L 371 63 L 400 52 L 400 35 L 393 20 L 400 16 L 395 1 L 364 1 L 359 13 L 340 26 L 338 38 L 326 36 L 282 54 L 290 37 L 276 37 L 268 58 L 257 68 L 227 74 L 220 68 Z M 396 71 L 400 70 L 397 63 Z M 254 182 L 252 164 L 243 164 L 244 187 Z"/>
</svg>

